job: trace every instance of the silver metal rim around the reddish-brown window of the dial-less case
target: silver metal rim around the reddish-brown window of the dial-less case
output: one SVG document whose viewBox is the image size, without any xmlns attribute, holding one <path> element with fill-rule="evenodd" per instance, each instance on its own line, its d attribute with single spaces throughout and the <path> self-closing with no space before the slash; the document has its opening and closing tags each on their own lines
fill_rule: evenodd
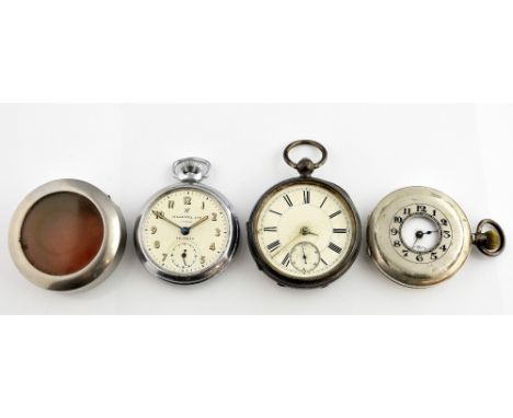
<svg viewBox="0 0 513 418">
<path fill-rule="evenodd" d="M 46 196 L 57 193 L 82 195 L 94 204 L 103 220 L 103 242 L 96 256 L 80 271 L 52 276 L 36 269 L 21 247 L 20 233 L 31 208 Z M 33 190 L 14 212 L 9 230 L 9 249 L 20 272 L 34 285 L 56 291 L 86 289 L 100 283 L 119 264 L 126 245 L 126 224 L 119 208 L 98 187 L 71 178 L 46 183 Z"/>
</svg>

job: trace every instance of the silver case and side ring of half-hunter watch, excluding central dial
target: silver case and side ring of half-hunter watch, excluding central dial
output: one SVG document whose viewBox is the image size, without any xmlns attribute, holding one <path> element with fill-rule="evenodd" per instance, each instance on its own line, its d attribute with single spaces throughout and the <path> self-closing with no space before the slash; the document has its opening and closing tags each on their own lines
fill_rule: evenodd
<svg viewBox="0 0 513 418">
<path fill-rule="evenodd" d="M 442 258 L 426 264 L 406 260 L 392 247 L 389 231 L 390 223 L 397 211 L 409 205 L 429 205 L 438 208 L 452 227 L 452 242 Z M 498 231 L 501 240 L 500 248 L 488 251 L 482 227 L 489 224 Z M 482 241 L 480 244 L 479 241 Z M 368 254 L 378 269 L 392 281 L 410 287 L 426 288 L 453 277 L 467 260 L 471 245 L 478 245 L 481 252 L 491 256 L 499 255 L 505 245 L 505 237 L 500 227 L 485 220 L 478 232 L 472 234 L 467 216 L 458 204 L 446 194 L 429 187 L 407 187 L 386 196 L 374 209 L 367 227 Z"/>
</svg>

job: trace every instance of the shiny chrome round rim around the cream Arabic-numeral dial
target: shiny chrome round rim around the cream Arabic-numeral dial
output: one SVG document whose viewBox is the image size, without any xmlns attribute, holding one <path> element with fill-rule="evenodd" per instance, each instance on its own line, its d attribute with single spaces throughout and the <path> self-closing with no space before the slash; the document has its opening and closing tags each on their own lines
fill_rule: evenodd
<svg viewBox="0 0 513 418">
<path fill-rule="evenodd" d="M 160 266 L 158 266 L 151 260 L 151 258 L 146 253 L 145 246 L 142 244 L 142 227 L 141 227 L 142 219 L 146 219 L 153 204 L 157 200 L 159 200 L 162 196 L 171 191 L 175 191 L 180 189 L 196 189 L 196 190 L 201 190 L 203 193 L 212 195 L 219 201 L 219 204 L 221 205 L 223 209 L 226 211 L 228 219 L 229 219 L 229 225 L 230 225 L 229 241 L 224 253 L 219 257 L 218 263 L 194 275 L 173 275 L 173 274 L 170 274 L 169 271 L 163 270 Z M 204 184 L 197 184 L 197 183 L 178 183 L 172 186 L 168 186 L 157 191 L 156 194 L 153 194 L 148 199 L 145 207 L 142 208 L 142 211 L 137 218 L 135 229 L 134 229 L 134 242 L 135 242 L 136 253 L 139 256 L 139 259 L 141 260 L 142 265 L 155 277 L 169 281 L 174 285 L 196 285 L 196 283 L 206 281 L 213 278 L 214 276 L 220 274 L 223 270 L 225 270 L 225 268 L 233 258 L 237 252 L 238 245 L 239 245 L 239 237 L 240 237 L 239 222 L 228 199 L 215 188 L 206 186 Z"/>
</svg>

